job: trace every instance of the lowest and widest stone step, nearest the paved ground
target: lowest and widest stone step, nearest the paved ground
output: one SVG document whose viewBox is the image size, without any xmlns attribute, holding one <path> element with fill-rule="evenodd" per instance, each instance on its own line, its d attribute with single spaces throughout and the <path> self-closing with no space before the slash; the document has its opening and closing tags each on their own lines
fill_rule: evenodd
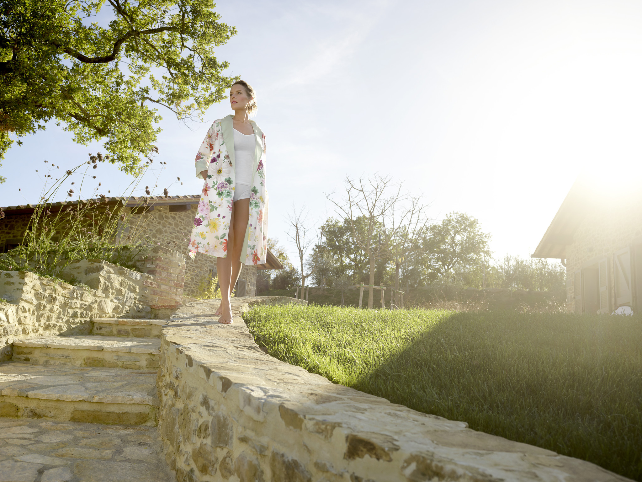
<svg viewBox="0 0 642 482">
<path fill-rule="evenodd" d="M 156 425 L 157 370 L 0 363 L 0 417 Z"/>
</svg>

